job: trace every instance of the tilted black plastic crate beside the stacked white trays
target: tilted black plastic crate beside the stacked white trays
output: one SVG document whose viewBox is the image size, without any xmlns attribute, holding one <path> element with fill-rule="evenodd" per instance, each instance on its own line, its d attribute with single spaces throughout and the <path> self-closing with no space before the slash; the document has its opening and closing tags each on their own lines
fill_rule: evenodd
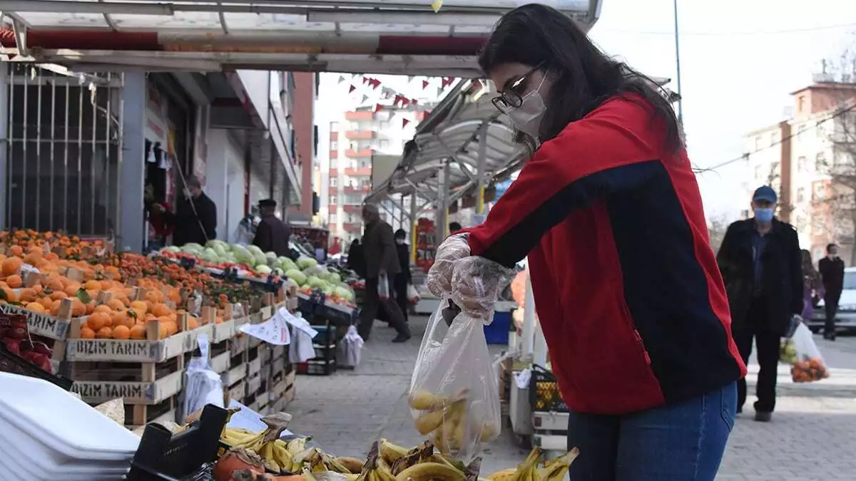
<svg viewBox="0 0 856 481">
<path fill-rule="evenodd" d="M 226 418 L 225 409 L 208 404 L 199 422 L 179 434 L 173 435 L 157 423 L 146 425 L 140 448 L 131 460 L 131 470 L 125 479 L 179 481 L 196 477 L 203 466 L 217 460 L 220 432 L 226 425 Z"/>
</svg>

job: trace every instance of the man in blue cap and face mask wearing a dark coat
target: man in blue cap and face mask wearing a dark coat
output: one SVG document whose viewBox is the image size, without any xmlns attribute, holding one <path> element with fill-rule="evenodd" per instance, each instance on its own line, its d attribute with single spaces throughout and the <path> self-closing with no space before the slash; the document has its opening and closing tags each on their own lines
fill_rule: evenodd
<svg viewBox="0 0 856 481">
<path fill-rule="evenodd" d="M 774 217 L 776 192 L 758 187 L 755 217 L 728 226 L 716 256 L 731 306 L 731 327 L 744 362 L 758 345 L 755 420 L 769 421 L 776 408 L 779 343 L 803 309 L 800 241 L 794 228 Z M 737 389 L 737 410 L 746 402 L 746 379 Z"/>
</svg>

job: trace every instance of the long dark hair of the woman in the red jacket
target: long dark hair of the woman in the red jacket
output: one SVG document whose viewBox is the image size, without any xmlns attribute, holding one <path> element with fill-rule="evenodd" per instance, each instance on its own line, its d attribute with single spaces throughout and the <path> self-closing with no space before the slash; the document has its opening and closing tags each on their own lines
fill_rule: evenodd
<svg viewBox="0 0 856 481">
<path fill-rule="evenodd" d="M 544 65 L 550 74 L 552 86 L 544 97 L 548 106 L 539 135 L 542 142 L 556 137 L 568 123 L 580 120 L 608 98 L 634 93 L 663 122 L 666 147 L 676 151 L 683 145 L 675 110 L 657 84 L 604 55 L 574 21 L 556 9 L 531 3 L 502 16 L 479 55 L 479 66 L 490 74 L 511 62 Z M 536 142 L 528 135 L 518 132 L 515 140 L 534 151 Z"/>
</svg>

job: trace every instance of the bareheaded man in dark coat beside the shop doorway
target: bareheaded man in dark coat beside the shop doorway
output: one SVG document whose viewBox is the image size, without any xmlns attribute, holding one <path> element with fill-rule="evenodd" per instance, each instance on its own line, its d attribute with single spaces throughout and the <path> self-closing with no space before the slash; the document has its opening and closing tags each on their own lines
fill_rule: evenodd
<svg viewBox="0 0 856 481">
<path fill-rule="evenodd" d="M 186 185 L 187 195 L 179 201 L 175 213 L 163 212 L 175 226 L 172 243 L 175 246 L 188 242 L 205 245 L 217 239 L 217 205 L 202 192 L 202 183 L 196 177 L 187 177 Z"/>
</svg>

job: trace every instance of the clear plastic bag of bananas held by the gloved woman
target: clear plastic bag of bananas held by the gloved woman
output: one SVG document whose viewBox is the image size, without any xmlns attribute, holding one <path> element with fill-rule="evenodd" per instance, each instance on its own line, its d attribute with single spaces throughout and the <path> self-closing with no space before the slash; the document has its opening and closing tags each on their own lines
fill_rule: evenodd
<svg viewBox="0 0 856 481">
<path fill-rule="evenodd" d="M 499 435 L 499 388 L 479 319 L 461 312 L 451 326 L 440 302 L 422 338 L 408 404 L 416 429 L 443 454 L 471 460 Z"/>
</svg>

